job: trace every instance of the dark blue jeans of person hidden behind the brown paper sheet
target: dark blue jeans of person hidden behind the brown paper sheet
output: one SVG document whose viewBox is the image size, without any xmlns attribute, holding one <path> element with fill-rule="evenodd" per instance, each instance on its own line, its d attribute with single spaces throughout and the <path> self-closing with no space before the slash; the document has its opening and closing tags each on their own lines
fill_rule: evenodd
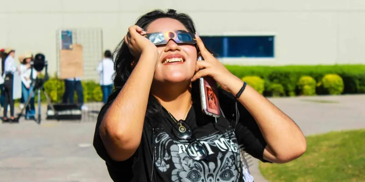
<svg viewBox="0 0 365 182">
<path fill-rule="evenodd" d="M 80 80 L 65 80 L 65 92 L 62 97 L 62 103 L 71 103 L 74 101 L 75 90 L 77 92 L 77 100 L 79 104 L 84 104 L 84 91 Z M 67 102 L 68 101 L 68 102 Z"/>
</svg>

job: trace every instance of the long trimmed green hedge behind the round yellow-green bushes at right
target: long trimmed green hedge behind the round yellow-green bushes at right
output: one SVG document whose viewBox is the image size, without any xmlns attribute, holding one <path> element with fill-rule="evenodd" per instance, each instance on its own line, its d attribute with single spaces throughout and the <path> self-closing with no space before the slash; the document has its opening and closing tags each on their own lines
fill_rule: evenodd
<svg viewBox="0 0 365 182">
<path fill-rule="evenodd" d="M 365 93 L 365 65 L 333 65 L 333 66 L 233 66 L 227 65 L 234 75 L 239 78 L 245 76 L 259 76 L 265 80 L 265 89 L 270 84 L 281 84 L 284 94 L 289 96 L 300 95 L 298 82 L 301 76 L 311 76 L 317 83 L 327 74 L 337 74 L 343 80 L 342 94 Z M 320 92 L 317 94 L 326 94 Z M 269 90 L 265 96 L 272 96 Z"/>
</svg>

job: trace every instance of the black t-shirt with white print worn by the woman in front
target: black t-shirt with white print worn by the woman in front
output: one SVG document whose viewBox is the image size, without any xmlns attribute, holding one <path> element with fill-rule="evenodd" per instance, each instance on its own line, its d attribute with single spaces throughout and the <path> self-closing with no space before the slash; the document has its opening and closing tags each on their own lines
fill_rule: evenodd
<svg viewBox="0 0 365 182">
<path fill-rule="evenodd" d="M 214 118 L 203 114 L 199 103 L 193 103 L 185 119 L 185 123 L 193 131 L 194 138 L 207 149 L 208 160 L 195 161 L 189 157 L 188 153 L 191 156 L 196 154 L 192 150 L 187 151 L 190 142 L 175 137 L 172 127 L 176 123 L 168 112 L 162 109 L 162 117 L 157 126 L 152 127 L 145 121 L 141 144 L 134 155 L 123 162 L 114 161 L 107 154 L 99 134 L 101 119 L 110 103 L 101 108 L 93 145 L 97 154 L 105 160 L 113 181 L 242 181 L 239 145 L 253 157 L 267 162 L 262 158 L 266 142 L 257 123 L 238 102 L 239 121 L 236 124 L 236 99 L 221 89 L 219 104 L 224 116 L 221 114 L 216 123 Z"/>
</svg>

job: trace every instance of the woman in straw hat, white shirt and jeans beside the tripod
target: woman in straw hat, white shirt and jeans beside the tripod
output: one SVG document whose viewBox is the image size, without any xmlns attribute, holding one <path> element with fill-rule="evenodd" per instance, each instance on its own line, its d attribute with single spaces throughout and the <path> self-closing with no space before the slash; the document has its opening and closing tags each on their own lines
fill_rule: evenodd
<svg viewBox="0 0 365 182">
<path fill-rule="evenodd" d="M 30 62 L 32 57 L 33 55 L 31 53 L 26 53 L 22 60 L 22 64 L 19 66 L 20 78 L 22 79 L 22 94 L 24 102 L 27 102 L 28 98 L 31 96 L 29 104 L 26 107 L 26 119 L 35 119 L 34 93 L 32 95 L 30 94 L 34 87 L 32 85 L 32 81 L 37 78 L 37 70 L 31 67 Z"/>
</svg>

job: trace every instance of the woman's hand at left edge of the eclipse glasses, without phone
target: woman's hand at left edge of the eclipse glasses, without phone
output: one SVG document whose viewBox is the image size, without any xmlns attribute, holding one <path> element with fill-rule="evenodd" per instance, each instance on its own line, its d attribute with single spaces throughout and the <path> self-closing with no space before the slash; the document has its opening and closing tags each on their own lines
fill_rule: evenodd
<svg viewBox="0 0 365 182">
<path fill-rule="evenodd" d="M 128 33 L 124 36 L 124 43 L 127 44 L 129 51 L 136 58 L 141 56 L 144 51 L 157 52 L 157 47 L 143 36 L 146 34 L 147 32 L 145 32 L 141 27 L 133 25 L 128 28 Z"/>
</svg>

